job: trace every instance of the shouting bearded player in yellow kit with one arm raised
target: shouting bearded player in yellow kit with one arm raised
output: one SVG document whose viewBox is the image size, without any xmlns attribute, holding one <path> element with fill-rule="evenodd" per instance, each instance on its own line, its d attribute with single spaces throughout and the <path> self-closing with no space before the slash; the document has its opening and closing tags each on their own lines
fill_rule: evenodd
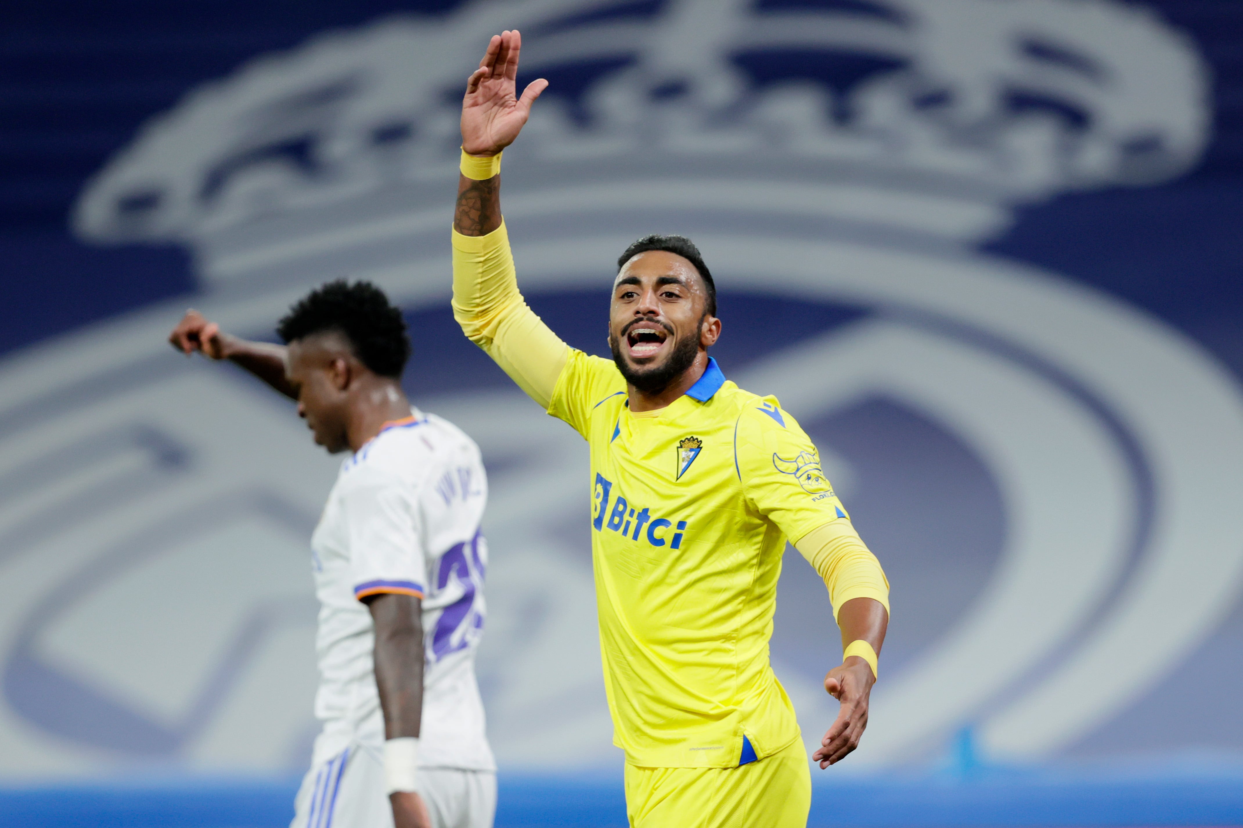
<svg viewBox="0 0 1243 828">
<path fill-rule="evenodd" d="M 807 756 L 768 664 L 786 541 L 824 577 L 845 646 L 824 680 L 840 713 L 812 757 L 822 768 L 866 726 L 889 583 L 794 418 L 709 358 L 716 289 L 689 240 L 649 236 L 623 253 L 613 360 L 569 348 L 526 305 L 500 153 L 547 81 L 516 97 L 520 47 L 516 31 L 493 36 L 462 102 L 454 315 L 590 444 L 600 650 L 630 824 L 805 826 Z"/>
</svg>

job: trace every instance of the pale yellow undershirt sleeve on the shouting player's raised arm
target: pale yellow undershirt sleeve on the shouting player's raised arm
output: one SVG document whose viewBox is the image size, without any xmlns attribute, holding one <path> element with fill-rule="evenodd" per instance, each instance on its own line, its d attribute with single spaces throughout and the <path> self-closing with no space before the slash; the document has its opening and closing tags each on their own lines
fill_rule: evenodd
<svg viewBox="0 0 1243 828">
<path fill-rule="evenodd" d="M 486 236 L 452 233 L 454 319 L 467 339 L 547 408 L 569 345 L 522 300 L 505 222 Z"/>
</svg>

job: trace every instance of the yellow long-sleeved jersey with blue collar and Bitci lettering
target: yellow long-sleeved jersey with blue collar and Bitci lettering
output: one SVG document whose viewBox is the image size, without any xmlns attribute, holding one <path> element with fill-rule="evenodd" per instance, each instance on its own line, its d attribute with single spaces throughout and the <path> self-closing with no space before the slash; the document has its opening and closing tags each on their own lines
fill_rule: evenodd
<svg viewBox="0 0 1243 828">
<path fill-rule="evenodd" d="M 730 767 L 799 737 L 768 664 L 787 539 L 833 606 L 889 583 L 774 397 L 715 361 L 660 411 L 633 412 L 610 360 L 571 349 L 518 293 L 505 226 L 454 232 L 454 313 L 548 413 L 590 444 L 592 557 L 614 741 L 641 767 Z M 750 758 L 750 752 L 748 752 Z"/>
</svg>

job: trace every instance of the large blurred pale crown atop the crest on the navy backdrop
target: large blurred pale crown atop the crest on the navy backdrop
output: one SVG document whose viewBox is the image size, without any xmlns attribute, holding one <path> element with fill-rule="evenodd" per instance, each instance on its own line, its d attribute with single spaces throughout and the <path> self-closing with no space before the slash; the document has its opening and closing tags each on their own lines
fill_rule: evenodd
<svg viewBox="0 0 1243 828">
<path fill-rule="evenodd" d="M 465 77 L 512 27 L 520 81 L 552 81 L 521 149 L 549 170 L 781 169 L 1011 205 L 1170 179 L 1211 129 L 1193 43 L 1120 0 L 480 1 L 193 91 L 88 184 L 75 228 L 199 242 L 394 189 L 443 201 Z"/>
</svg>

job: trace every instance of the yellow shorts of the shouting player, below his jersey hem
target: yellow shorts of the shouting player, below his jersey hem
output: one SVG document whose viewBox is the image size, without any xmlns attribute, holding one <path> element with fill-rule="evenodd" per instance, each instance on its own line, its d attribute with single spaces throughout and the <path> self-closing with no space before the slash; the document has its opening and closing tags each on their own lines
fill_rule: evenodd
<svg viewBox="0 0 1243 828">
<path fill-rule="evenodd" d="M 812 772 L 803 740 L 741 767 L 625 766 L 631 828 L 805 828 Z"/>
</svg>

